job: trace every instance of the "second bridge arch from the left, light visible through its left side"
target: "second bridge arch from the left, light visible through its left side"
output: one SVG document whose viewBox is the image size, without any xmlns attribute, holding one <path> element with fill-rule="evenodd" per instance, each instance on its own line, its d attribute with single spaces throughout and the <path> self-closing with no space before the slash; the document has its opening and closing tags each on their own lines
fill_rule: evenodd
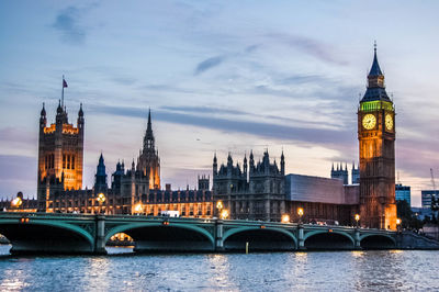
<svg viewBox="0 0 439 292">
<path fill-rule="evenodd" d="M 215 239 L 205 228 L 184 223 L 136 222 L 115 226 L 105 233 L 106 243 L 113 235 L 133 237 L 135 251 L 201 251 L 214 250 Z"/>
</svg>

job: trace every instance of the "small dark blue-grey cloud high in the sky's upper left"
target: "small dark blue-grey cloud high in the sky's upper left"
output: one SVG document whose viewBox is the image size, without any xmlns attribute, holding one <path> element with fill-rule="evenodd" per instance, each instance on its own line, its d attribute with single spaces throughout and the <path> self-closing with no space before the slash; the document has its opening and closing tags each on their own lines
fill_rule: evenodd
<svg viewBox="0 0 439 292">
<path fill-rule="evenodd" d="M 63 41 L 70 44 L 82 44 L 86 40 L 86 29 L 78 23 L 83 9 L 69 7 L 56 15 L 52 27 L 61 33 Z"/>
</svg>

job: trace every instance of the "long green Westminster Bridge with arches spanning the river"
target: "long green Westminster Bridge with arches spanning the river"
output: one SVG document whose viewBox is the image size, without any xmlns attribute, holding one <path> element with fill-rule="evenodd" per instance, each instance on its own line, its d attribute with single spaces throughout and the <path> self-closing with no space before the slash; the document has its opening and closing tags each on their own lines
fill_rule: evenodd
<svg viewBox="0 0 439 292">
<path fill-rule="evenodd" d="M 117 233 L 134 239 L 134 251 L 146 252 L 416 248 L 423 239 L 407 242 L 404 234 L 383 229 L 279 222 L 0 213 L 0 234 L 10 240 L 11 254 L 102 255 Z"/>
</svg>

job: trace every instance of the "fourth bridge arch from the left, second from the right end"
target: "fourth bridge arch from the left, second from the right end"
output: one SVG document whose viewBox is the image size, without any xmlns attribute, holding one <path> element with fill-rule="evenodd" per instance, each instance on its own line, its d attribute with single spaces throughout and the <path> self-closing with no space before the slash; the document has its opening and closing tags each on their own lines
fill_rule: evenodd
<svg viewBox="0 0 439 292">
<path fill-rule="evenodd" d="M 356 244 L 353 237 L 342 231 L 312 231 L 303 239 L 307 249 L 352 249 Z"/>
</svg>

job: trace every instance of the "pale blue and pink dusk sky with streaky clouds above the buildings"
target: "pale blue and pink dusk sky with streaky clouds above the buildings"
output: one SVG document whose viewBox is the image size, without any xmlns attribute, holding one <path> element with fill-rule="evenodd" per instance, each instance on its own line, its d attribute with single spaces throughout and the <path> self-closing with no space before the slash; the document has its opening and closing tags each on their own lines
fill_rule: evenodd
<svg viewBox="0 0 439 292">
<path fill-rule="evenodd" d="M 148 109 L 162 184 L 193 188 L 212 158 L 268 148 L 288 173 L 358 161 L 373 43 L 396 108 L 396 171 L 439 178 L 438 1 L 1 1 L 0 198 L 36 193 L 38 119 L 61 93 L 86 119 L 83 187 L 136 159 Z M 439 181 L 437 182 L 439 184 Z"/>
</svg>

